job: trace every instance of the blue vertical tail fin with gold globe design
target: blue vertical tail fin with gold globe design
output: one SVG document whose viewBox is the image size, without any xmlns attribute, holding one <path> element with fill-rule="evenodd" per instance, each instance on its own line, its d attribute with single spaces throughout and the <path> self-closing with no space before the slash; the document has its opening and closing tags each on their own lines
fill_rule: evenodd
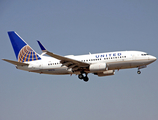
<svg viewBox="0 0 158 120">
<path fill-rule="evenodd" d="M 41 60 L 39 55 L 14 31 L 8 32 L 18 62 Z"/>
</svg>

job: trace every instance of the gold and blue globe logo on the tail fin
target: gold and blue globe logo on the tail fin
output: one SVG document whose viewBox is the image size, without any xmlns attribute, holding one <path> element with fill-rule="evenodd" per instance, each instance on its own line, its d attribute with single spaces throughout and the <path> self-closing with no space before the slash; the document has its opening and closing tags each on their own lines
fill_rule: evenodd
<svg viewBox="0 0 158 120">
<path fill-rule="evenodd" d="M 34 60 L 40 60 L 41 58 L 38 56 L 38 54 L 31 49 L 29 45 L 24 46 L 18 55 L 18 61 L 19 62 L 29 62 Z"/>
</svg>

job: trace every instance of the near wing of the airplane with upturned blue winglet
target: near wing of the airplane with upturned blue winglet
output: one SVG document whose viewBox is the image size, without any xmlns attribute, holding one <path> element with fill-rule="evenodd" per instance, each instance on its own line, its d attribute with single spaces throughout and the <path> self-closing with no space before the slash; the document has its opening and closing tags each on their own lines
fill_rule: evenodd
<svg viewBox="0 0 158 120">
<path fill-rule="evenodd" d="M 84 68 L 84 67 L 88 67 L 90 64 L 88 63 L 85 63 L 85 62 L 81 62 L 81 61 L 78 61 L 78 60 L 75 60 L 75 59 L 71 59 L 71 58 L 68 58 L 68 57 L 64 57 L 64 56 L 60 56 L 60 55 L 57 55 L 57 54 L 54 54 L 52 52 L 49 52 L 48 50 L 45 49 L 45 47 L 40 43 L 40 41 L 37 41 L 41 50 L 43 52 L 45 52 L 47 55 L 53 57 L 53 58 L 56 58 L 58 60 L 60 60 L 60 63 L 63 64 L 63 66 L 67 66 L 68 69 L 72 68 L 73 70 L 77 70 L 79 68 Z"/>
</svg>

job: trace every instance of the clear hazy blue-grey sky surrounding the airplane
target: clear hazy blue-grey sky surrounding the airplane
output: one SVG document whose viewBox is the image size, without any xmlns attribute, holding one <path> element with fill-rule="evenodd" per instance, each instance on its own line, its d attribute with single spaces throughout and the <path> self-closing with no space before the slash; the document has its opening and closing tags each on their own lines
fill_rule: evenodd
<svg viewBox="0 0 158 120">
<path fill-rule="evenodd" d="M 158 58 L 156 0 L 1 0 L 0 55 L 16 60 L 7 31 L 36 52 L 139 50 Z M 40 75 L 0 60 L 0 120 L 157 120 L 158 61 L 114 76 Z"/>
</svg>

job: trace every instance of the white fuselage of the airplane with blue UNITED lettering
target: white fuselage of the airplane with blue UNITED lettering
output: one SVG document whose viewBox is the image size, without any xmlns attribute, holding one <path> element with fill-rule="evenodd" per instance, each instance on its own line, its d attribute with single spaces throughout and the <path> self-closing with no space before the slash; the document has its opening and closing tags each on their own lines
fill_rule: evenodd
<svg viewBox="0 0 158 120">
<path fill-rule="evenodd" d="M 42 58 L 41 60 L 26 62 L 29 63 L 29 66 L 17 66 L 17 68 L 43 74 L 80 74 L 80 71 L 72 72 L 71 68 L 69 69 L 62 65 L 58 59 L 47 56 L 40 57 Z M 78 56 L 69 55 L 65 57 L 89 64 L 105 63 L 106 69 L 104 71 L 146 67 L 156 60 L 156 57 L 140 51 L 116 51 Z M 94 73 L 94 71 L 90 71 L 89 69 L 86 72 Z"/>
</svg>

